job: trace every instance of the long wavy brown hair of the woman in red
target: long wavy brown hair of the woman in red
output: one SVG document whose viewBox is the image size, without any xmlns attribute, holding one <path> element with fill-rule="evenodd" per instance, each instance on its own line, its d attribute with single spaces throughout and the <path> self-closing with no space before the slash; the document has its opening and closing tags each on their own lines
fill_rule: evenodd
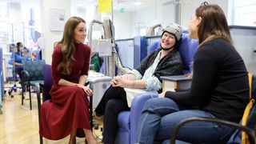
<svg viewBox="0 0 256 144">
<path fill-rule="evenodd" d="M 79 17 L 71 17 L 65 24 L 62 40 L 58 45 L 62 47 L 62 62 L 58 65 L 58 70 L 62 70 L 62 74 L 70 74 L 70 61 L 74 55 L 74 29 L 79 23 L 86 21 Z"/>
</svg>

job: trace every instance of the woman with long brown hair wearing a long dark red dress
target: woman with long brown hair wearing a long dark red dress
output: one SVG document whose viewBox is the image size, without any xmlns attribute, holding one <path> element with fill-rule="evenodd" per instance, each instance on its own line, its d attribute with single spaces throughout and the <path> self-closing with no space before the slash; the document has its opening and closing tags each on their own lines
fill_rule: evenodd
<svg viewBox="0 0 256 144">
<path fill-rule="evenodd" d="M 70 134 L 70 144 L 86 136 L 88 143 L 97 143 L 90 130 L 89 102 L 92 90 L 84 86 L 90 66 L 90 47 L 83 44 L 86 22 L 72 17 L 65 25 L 61 42 L 54 48 L 50 90 L 51 102 L 41 108 L 40 134 L 52 140 Z"/>
</svg>

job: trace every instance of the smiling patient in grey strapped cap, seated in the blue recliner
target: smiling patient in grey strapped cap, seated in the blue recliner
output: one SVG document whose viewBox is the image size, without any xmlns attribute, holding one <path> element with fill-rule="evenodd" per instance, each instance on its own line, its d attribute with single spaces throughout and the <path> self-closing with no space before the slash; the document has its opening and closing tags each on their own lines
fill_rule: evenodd
<svg viewBox="0 0 256 144">
<path fill-rule="evenodd" d="M 127 74 L 118 75 L 110 82 L 95 109 L 96 115 L 105 115 L 103 123 L 103 142 L 113 144 L 118 130 L 118 114 L 122 110 L 129 110 L 130 102 L 127 101 L 126 90 L 142 89 L 158 93 L 162 91 L 161 76 L 182 74 L 182 58 L 177 46 L 182 38 L 182 26 L 171 23 L 162 31 L 161 46 L 144 58 L 136 69 Z"/>
</svg>

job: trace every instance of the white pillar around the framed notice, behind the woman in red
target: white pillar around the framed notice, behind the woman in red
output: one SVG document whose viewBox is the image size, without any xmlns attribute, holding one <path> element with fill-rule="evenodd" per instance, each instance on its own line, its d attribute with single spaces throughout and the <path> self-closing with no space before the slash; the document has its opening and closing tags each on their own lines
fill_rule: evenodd
<svg viewBox="0 0 256 144">
<path fill-rule="evenodd" d="M 42 58 L 46 59 L 46 63 L 51 64 L 51 55 L 54 50 L 54 42 L 58 42 L 62 38 L 62 31 L 50 30 L 50 9 L 65 10 L 65 22 L 70 18 L 70 0 L 42 0 L 42 37 L 43 49 Z"/>
</svg>

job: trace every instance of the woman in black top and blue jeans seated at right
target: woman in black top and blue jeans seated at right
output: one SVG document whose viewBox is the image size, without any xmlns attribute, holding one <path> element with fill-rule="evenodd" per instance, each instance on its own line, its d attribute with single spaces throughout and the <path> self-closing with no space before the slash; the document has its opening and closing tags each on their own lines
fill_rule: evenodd
<svg viewBox="0 0 256 144">
<path fill-rule="evenodd" d="M 191 117 L 239 122 L 249 102 L 246 66 L 232 46 L 225 14 L 202 3 L 190 19 L 190 38 L 198 38 L 190 90 L 166 91 L 146 102 L 138 123 L 137 143 L 170 138 L 174 126 Z M 232 128 L 210 122 L 190 122 L 177 138 L 193 143 L 226 143 Z"/>
</svg>

